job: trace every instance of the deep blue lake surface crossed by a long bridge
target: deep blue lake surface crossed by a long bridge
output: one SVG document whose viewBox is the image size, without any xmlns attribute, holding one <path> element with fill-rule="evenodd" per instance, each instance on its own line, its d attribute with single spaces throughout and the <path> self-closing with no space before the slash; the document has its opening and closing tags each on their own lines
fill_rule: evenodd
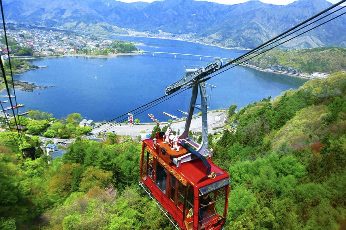
<svg viewBox="0 0 346 230">
<path fill-rule="evenodd" d="M 199 43 L 157 38 L 113 36 L 116 39 L 137 41 L 144 51 L 189 53 L 221 58 L 236 58 L 245 50 L 222 49 Z M 55 118 L 70 113 L 94 121 L 110 120 L 164 95 L 165 87 L 184 77 L 184 66 L 205 67 L 214 58 L 180 56 L 172 54 L 145 54 L 116 58 L 65 57 L 30 61 L 45 69 L 30 70 L 15 80 L 35 83 L 38 86 L 56 87 L 34 92 L 16 90 L 17 102 L 25 104 L 20 111 L 40 110 L 53 113 Z M 224 60 L 226 61 L 226 60 Z M 95 78 L 97 77 L 97 78 Z M 210 79 L 212 89 L 210 109 L 238 109 L 268 96 L 273 98 L 290 88 L 297 89 L 306 80 L 274 73 L 260 72 L 237 66 Z M 37 94 L 37 93 L 40 94 Z M 3 91 L 1 94 L 6 94 Z M 148 113 L 167 121 L 167 112 L 184 116 L 177 109 L 187 111 L 191 89 L 169 99 L 142 114 L 134 115 L 141 122 L 150 122 Z M 195 110 L 195 112 L 198 112 Z M 117 119 L 118 121 L 120 119 Z"/>
</svg>

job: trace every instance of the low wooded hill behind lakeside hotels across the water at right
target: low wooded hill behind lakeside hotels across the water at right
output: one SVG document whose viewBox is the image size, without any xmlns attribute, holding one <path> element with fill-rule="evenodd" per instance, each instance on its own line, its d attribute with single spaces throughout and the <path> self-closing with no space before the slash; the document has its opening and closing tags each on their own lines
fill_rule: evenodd
<svg viewBox="0 0 346 230">
<path fill-rule="evenodd" d="M 339 47 L 319 47 L 303 50 L 267 51 L 248 60 L 249 64 L 267 68 L 267 64 L 301 69 L 305 73 L 334 73 L 346 70 L 346 49 Z"/>
</svg>

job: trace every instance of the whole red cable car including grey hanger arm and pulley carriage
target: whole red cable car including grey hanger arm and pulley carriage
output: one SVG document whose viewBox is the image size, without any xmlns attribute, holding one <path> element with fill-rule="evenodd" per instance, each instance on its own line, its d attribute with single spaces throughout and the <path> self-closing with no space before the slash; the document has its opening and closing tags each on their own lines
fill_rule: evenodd
<svg viewBox="0 0 346 230">
<path fill-rule="evenodd" d="M 186 84 L 193 88 L 181 135 L 174 136 L 167 130 L 143 141 L 139 184 L 155 197 L 156 204 L 161 204 L 158 206 L 177 229 L 219 230 L 225 224 L 229 176 L 212 163 L 212 149 L 208 149 L 206 88 L 214 86 L 201 81 L 206 72 L 221 65 L 222 60 L 216 59 L 206 68 L 185 70 L 186 77 L 166 88 L 166 94 L 185 88 Z M 201 104 L 195 104 L 198 89 Z M 188 138 L 194 108 L 202 111 L 200 144 Z"/>
</svg>

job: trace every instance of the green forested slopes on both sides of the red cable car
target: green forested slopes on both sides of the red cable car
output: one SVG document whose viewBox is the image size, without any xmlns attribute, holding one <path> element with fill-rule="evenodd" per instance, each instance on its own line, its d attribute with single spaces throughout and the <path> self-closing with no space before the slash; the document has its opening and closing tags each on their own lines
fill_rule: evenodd
<svg viewBox="0 0 346 230">
<path fill-rule="evenodd" d="M 248 104 L 211 146 L 229 172 L 225 229 L 339 229 L 346 218 L 346 73 Z M 25 137 L 38 146 L 35 137 Z M 0 229 L 174 229 L 139 189 L 141 143 L 77 139 L 22 160 L 0 133 Z"/>
</svg>

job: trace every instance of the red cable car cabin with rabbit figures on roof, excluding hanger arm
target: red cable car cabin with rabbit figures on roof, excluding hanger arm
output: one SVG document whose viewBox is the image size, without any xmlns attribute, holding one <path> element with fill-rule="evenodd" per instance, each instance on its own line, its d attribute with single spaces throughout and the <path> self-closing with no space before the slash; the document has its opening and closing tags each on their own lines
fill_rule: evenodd
<svg viewBox="0 0 346 230">
<path fill-rule="evenodd" d="M 227 213 L 228 173 L 203 156 L 180 163 L 180 157 L 194 151 L 189 146 L 193 147 L 193 140 L 181 140 L 177 146 L 176 140 L 165 136 L 156 133 L 155 138 L 143 141 L 140 185 L 176 221 L 175 227 L 221 229 Z"/>
</svg>

